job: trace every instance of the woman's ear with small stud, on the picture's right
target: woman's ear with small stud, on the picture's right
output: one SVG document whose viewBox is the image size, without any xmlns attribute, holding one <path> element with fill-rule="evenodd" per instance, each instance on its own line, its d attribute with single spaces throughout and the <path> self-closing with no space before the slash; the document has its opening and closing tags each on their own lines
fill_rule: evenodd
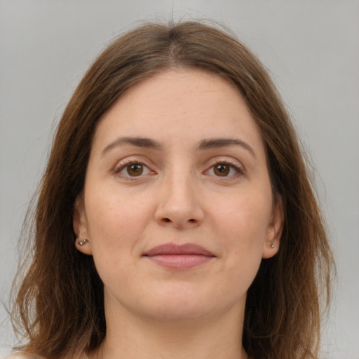
<svg viewBox="0 0 359 359">
<path fill-rule="evenodd" d="M 264 241 L 262 258 L 271 258 L 278 252 L 280 236 L 282 236 L 283 231 L 283 222 L 283 200 L 280 196 L 278 196 L 273 203 L 271 220 L 266 231 L 266 240 Z"/>
</svg>

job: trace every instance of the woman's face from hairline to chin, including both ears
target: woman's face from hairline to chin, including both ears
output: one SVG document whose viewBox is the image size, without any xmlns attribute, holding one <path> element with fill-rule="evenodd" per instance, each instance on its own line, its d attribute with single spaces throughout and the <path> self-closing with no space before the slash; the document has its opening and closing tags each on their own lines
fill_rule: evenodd
<svg viewBox="0 0 359 359">
<path fill-rule="evenodd" d="M 74 230 L 88 238 L 76 246 L 93 255 L 107 311 L 161 320 L 243 312 L 282 222 L 259 130 L 221 76 L 163 72 L 100 119 Z"/>
</svg>

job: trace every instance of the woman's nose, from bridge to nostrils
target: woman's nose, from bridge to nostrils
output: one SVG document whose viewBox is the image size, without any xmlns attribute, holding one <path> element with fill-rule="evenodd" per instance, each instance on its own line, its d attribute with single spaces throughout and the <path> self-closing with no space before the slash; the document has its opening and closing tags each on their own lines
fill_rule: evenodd
<svg viewBox="0 0 359 359">
<path fill-rule="evenodd" d="M 161 184 L 155 220 L 163 226 L 177 229 L 193 228 L 203 222 L 200 194 L 191 176 L 177 173 Z"/>
</svg>

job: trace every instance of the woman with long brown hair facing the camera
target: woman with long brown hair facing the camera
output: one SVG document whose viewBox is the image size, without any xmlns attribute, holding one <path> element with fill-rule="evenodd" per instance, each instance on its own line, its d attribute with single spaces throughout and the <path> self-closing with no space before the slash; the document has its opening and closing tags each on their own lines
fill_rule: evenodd
<svg viewBox="0 0 359 359">
<path fill-rule="evenodd" d="M 243 44 L 198 22 L 121 36 L 55 135 L 20 355 L 318 358 L 332 255 L 308 177 Z"/>
</svg>

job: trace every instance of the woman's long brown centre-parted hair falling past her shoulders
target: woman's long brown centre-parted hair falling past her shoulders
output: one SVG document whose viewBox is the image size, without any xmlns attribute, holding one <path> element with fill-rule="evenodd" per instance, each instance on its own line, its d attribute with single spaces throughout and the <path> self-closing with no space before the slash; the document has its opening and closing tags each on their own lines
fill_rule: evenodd
<svg viewBox="0 0 359 359">
<path fill-rule="evenodd" d="M 32 255 L 15 300 L 25 353 L 55 359 L 97 348 L 106 334 L 103 285 L 76 250 L 72 212 L 95 126 L 128 88 L 172 67 L 224 76 L 245 99 L 264 140 L 273 193 L 284 205 L 280 249 L 248 290 L 243 346 L 251 358 L 318 358 L 320 295 L 328 303 L 332 254 L 310 176 L 275 86 L 242 43 L 200 22 L 150 24 L 119 37 L 76 88 L 60 120 L 39 187 Z"/>
</svg>

